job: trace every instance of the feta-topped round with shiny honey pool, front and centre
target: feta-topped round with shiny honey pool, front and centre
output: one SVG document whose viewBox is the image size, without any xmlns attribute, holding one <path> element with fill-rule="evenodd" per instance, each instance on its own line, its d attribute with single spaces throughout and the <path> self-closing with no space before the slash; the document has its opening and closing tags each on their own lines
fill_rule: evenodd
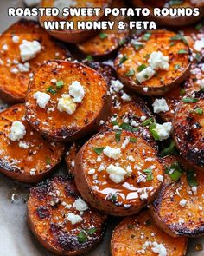
<svg viewBox="0 0 204 256">
<path fill-rule="evenodd" d="M 137 213 L 152 201 L 163 182 L 156 151 L 124 130 L 94 135 L 77 154 L 74 178 L 80 194 L 112 215 Z"/>
</svg>

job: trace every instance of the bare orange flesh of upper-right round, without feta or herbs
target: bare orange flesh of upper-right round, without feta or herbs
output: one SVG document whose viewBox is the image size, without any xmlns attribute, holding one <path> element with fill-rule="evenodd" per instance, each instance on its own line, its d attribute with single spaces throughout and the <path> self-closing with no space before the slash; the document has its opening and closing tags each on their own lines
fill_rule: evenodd
<svg viewBox="0 0 204 256">
<path fill-rule="evenodd" d="M 190 67 L 189 54 L 179 54 L 180 50 L 189 53 L 188 45 L 182 41 L 175 41 L 171 45 L 171 37 L 176 36 L 174 32 L 167 30 L 156 30 L 151 33 L 150 39 L 143 40 L 143 35 L 137 38 L 138 42 L 144 45 L 140 49 L 136 49 L 132 43 L 127 43 L 122 47 L 115 60 L 115 67 L 118 77 L 127 87 L 136 90 L 143 95 L 163 95 L 172 89 L 175 85 L 182 82 L 188 75 Z M 137 69 L 142 65 L 149 66 L 148 59 L 152 52 L 161 51 L 164 56 L 169 56 L 169 70 L 158 70 L 156 75 L 148 79 L 142 84 L 137 82 Z M 122 56 L 126 56 L 127 60 L 120 64 Z M 179 65 L 179 69 L 175 69 L 175 65 Z M 134 75 L 127 76 L 131 69 L 135 71 Z M 147 91 L 143 90 L 147 88 Z"/>
</svg>

